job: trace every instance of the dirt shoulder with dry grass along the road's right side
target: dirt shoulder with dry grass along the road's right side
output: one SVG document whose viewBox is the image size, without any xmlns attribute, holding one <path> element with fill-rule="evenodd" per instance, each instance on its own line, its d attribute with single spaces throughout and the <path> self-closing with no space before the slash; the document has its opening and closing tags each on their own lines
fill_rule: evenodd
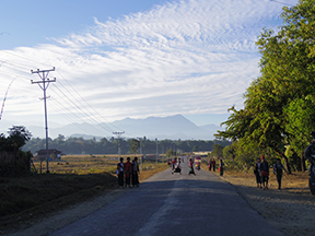
<svg viewBox="0 0 315 236">
<path fill-rule="evenodd" d="M 250 206 L 284 235 L 315 234 L 315 196 L 308 190 L 307 173 L 283 176 L 281 190 L 278 190 L 275 175 L 270 176 L 267 190 L 257 188 L 254 174 L 228 172 L 220 178 L 235 186 Z"/>
</svg>

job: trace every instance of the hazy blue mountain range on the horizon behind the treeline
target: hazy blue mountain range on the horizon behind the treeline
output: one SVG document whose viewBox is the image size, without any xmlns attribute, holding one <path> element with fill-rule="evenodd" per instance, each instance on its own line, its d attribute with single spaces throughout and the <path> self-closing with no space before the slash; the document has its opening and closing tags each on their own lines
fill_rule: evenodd
<svg viewBox="0 0 315 236">
<path fill-rule="evenodd" d="M 0 122 L 0 130 L 8 130 L 10 127 L 4 127 L 5 123 Z M 33 138 L 45 137 L 44 126 L 25 126 L 33 133 Z M 152 140 L 213 140 L 213 134 L 218 130 L 224 130 L 215 125 L 196 126 L 182 115 L 168 117 L 148 117 L 145 119 L 126 118 L 112 123 L 70 123 L 67 126 L 55 125 L 48 127 L 49 137 L 52 139 L 62 134 L 65 137 L 82 137 L 83 139 L 92 138 L 109 138 L 114 131 L 125 131 L 122 134 L 126 138 L 147 137 Z"/>
</svg>

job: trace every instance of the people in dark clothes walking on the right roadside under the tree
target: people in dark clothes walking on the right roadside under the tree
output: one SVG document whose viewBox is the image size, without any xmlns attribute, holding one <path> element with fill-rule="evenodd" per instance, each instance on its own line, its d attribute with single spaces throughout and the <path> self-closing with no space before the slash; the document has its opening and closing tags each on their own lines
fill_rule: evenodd
<svg viewBox="0 0 315 236">
<path fill-rule="evenodd" d="M 277 163 L 273 166 L 273 174 L 277 176 L 278 189 L 281 189 L 281 179 L 282 179 L 283 170 L 288 173 L 284 166 L 281 164 L 281 160 L 277 158 Z M 260 158 L 257 158 L 257 162 L 254 168 L 254 174 L 256 176 L 257 188 L 261 188 L 264 190 L 268 189 L 269 164 L 266 161 L 264 155 L 260 156 Z"/>
</svg>

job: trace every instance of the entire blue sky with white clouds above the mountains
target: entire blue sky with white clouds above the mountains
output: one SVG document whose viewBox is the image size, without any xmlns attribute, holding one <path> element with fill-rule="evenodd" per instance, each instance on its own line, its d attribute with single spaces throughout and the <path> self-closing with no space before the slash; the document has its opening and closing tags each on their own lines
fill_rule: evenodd
<svg viewBox="0 0 315 236">
<path fill-rule="evenodd" d="M 296 3 L 0 0 L 0 122 L 44 126 L 44 92 L 31 83 L 42 79 L 31 70 L 55 68 L 49 126 L 177 114 L 220 125 L 259 76 L 262 28 L 277 30 L 281 9 Z"/>
</svg>

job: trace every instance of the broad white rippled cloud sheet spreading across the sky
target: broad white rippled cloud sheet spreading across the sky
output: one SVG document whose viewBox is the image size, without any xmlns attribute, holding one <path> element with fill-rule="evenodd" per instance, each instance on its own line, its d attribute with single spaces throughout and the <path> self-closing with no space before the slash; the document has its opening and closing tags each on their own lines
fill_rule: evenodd
<svg viewBox="0 0 315 236">
<path fill-rule="evenodd" d="M 243 106 L 242 94 L 259 75 L 255 40 L 264 26 L 280 24 L 281 8 L 268 0 L 182 0 L 117 20 L 95 19 L 84 33 L 55 38 L 50 45 L 0 50 L 0 60 L 7 60 L 1 81 L 9 83 L 10 74 L 21 72 L 21 81 L 28 83 L 35 75 L 27 68 L 55 66 L 59 74 L 54 73 L 52 101 L 78 113 L 58 92 L 72 91 L 67 79 L 109 120 L 226 113 L 233 104 Z M 27 105 L 19 106 L 23 96 L 30 113 L 42 114 L 42 104 L 34 99 L 40 91 L 28 84 L 26 92 L 21 81 L 14 84 L 21 93 L 11 94 L 15 105 L 8 111 L 24 113 Z M 81 99 L 75 94 L 69 97 Z"/>
</svg>

